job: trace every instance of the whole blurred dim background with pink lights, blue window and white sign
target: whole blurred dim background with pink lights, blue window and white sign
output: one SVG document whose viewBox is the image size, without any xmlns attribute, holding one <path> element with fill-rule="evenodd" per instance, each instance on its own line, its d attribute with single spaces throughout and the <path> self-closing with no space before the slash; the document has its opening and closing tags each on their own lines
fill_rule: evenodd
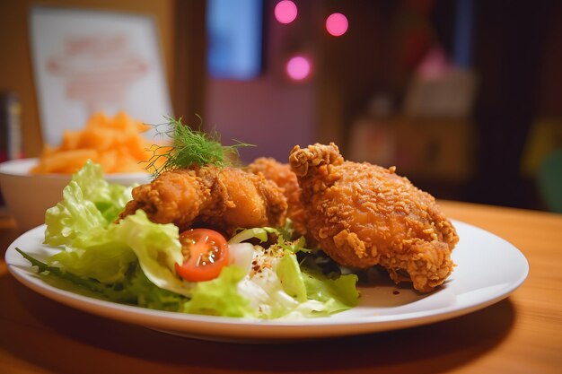
<svg viewBox="0 0 562 374">
<path fill-rule="evenodd" d="M 2 157 L 83 126 L 66 112 L 126 109 L 255 144 L 244 161 L 335 142 L 438 198 L 562 212 L 561 17 L 555 0 L 5 0 Z M 110 33 L 142 44 L 138 20 L 156 48 Z"/>
</svg>

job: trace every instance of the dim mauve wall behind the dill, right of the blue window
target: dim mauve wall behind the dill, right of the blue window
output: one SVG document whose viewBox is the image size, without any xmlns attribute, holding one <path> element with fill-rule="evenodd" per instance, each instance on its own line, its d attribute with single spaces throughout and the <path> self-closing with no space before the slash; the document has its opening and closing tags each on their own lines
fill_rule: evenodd
<svg viewBox="0 0 562 374">
<path fill-rule="evenodd" d="M 303 83 L 289 82 L 285 77 L 285 59 L 295 50 L 311 50 L 294 45 L 295 38 L 306 35 L 310 6 L 299 5 L 299 17 L 289 25 L 273 18 L 277 2 L 264 6 L 264 70 L 256 79 L 246 82 L 209 78 L 206 86 L 206 129 L 215 128 L 224 144 L 232 139 L 255 144 L 241 150 L 243 161 L 259 156 L 287 161 L 294 144 L 306 146 L 315 139 L 315 104 L 313 79 Z M 312 76 L 312 78 L 314 78 Z M 186 118 L 194 118 L 190 113 Z"/>
</svg>

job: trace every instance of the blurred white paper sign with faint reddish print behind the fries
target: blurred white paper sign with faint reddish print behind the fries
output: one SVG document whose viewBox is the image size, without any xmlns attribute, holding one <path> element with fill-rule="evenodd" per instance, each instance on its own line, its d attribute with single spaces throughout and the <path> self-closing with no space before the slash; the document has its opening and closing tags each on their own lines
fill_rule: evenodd
<svg viewBox="0 0 562 374">
<path fill-rule="evenodd" d="M 125 110 L 149 124 L 172 115 L 151 17 L 32 7 L 31 49 L 48 144 L 59 144 L 64 129 L 83 128 L 99 110 Z"/>
</svg>

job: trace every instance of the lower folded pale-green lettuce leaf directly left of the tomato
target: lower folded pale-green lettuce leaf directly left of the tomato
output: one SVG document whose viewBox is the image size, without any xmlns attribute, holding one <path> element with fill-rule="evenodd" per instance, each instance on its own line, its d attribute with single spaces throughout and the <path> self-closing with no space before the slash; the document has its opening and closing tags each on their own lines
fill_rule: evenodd
<svg viewBox="0 0 562 374">
<path fill-rule="evenodd" d="M 175 273 L 175 264 L 183 262 L 178 227 L 151 222 L 142 210 L 106 229 L 83 233 L 72 247 L 49 257 L 49 263 L 101 283 L 122 282 L 136 260 L 156 286 L 189 295 L 191 285 Z"/>
</svg>

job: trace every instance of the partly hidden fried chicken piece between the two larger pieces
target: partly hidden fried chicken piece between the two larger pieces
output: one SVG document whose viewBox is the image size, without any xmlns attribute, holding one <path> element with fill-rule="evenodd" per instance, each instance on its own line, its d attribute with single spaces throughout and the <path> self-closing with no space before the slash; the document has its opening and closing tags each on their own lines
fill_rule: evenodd
<svg viewBox="0 0 562 374">
<path fill-rule="evenodd" d="M 306 235 L 306 213 L 301 203 L 301 187 L 289 164 L 270 157 L 260 157 L 250 163 L 246 169 L 254 174 L 261 173 L 266 179 L 273 180 L 278 187 L 281 187 L 287 199 L 287 218 L 293 222 L 297 234 Z"/>
</svg>

